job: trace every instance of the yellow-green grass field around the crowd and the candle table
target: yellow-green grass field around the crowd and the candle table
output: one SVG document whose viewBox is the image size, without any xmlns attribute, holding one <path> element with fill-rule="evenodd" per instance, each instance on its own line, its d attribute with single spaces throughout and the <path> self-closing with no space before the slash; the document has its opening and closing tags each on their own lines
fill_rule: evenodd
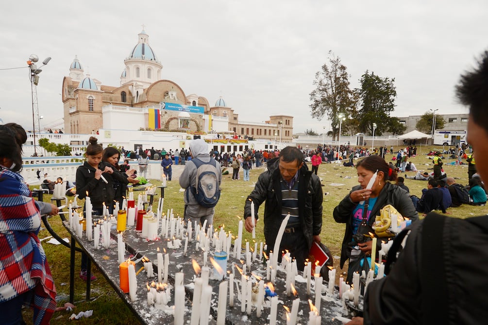
<svg viewBox="0 0 488 325">
<path fill-rule="evenodd" d="M 416 157 L 412 157 L 411 161 L 417 166 L 419 170 L 432 169 L 432 162 L 427 158 L 425 153 L 428 150 L 439 150 L 442 147 L 423 147 L 422 152 Z M 396 150 L 400 147 L 395 148 Z M 386 155 L 386 160 L 391 160 L 392 154 Z M 453 176 L 457 183 L 466 185 L 468 183 L 468 165 L 451 166 L 449 162 L 452 160 L 444 159 L 444 170 L 448 176 Z M 310 168 L 310 165 L 309 165 Z M 232 181 L 232 172 L 229 175 L 223 176 L 222 194 L 220 201 L 216 207 L 214 225 L 224 224 L 225 229 L 237 233 L 238 217 L 243 215 L 244 200 L 246 196 L 253 190 L 259 174 L 264 171 L 264 168 L 253 169 L 250 172 L 250 181 L 244 182 L 242 180 Z M 401 173 L 403 175 L 404 173 Z M 408 175 L 413 175 L 414 172 L 407 172 Z M 332 218 L 332 211 L 337 204 L 350 191 L 351 187 L 357 185 L 356 169 L 352 167 L 343 167 L 340 164 L 322 164 L 319 167 L 318 175 L 323 180 L 324 192 L 324 212 L 323 212 L 323 226 L 321 239 L 322 242 L 332 251 L 337 258 L 334 259 L 334 266 L 338 268 L 341 242 L 344 236 L 344 224 L 337 224 Z M 151 182 L 159 185 L 159 182 Z M 410 189 L 411 194 L 420 197 L 421 190 L 427 187 L 427 182 L 406 180 L 405 184 Z M 50 195 L 45 196 L 45 201 L 50 200 Z M 79 203 L 82 204 L 82 203 Z M 183 214 L 183 192 L 180 191 L 178 180 L 168 182 L 168 188 L 165 191 L 164 210 L 173 208 L 175 213 Z M 156 209 L 156 208 L 154 208 Z M 483 215 L 488 212 L 487 207 L 463 205 L 460 208 L 449 208 L 450 217 L 467 218 L 475 215 Z M 263 211 L 259 211 L 263 215 Z M 50 218 L 50 223 L 53 228 L 61 235 L 61 237 L 69 237 L 67 231 L 61 225 L 59 216 Z M 245 231 L 244 231 L 245 232 Z M 49 236 L 49 233 L 44 229 L 39 233 L 40 238 Z M 257 224 L 256 230 L 257 241 L 264 241 L 263 223 L 260 221 Z M 251 234 L 245 232 L 244 239 L 250 240 Z M 68 301 L 69 295 L 69 249 L 62 245 L 51 245 L 44 243 L 44 250 L 54 276 L 56 287 L 58 290 L 58 306 L 63 306 Z M 76 257 L 76 270 L 80 269 L 80 257 Z M 76 309 L 72 312 L 60 311 L 56 312 L 52 324 L 72 324 L 73 321 L 68 320 L 72 313 L 78 313 L 84 310 L 93 309 L 93 316 L 87 319 L 77 320 L 77 324 L 137 324 L 138 321 L 132 316 L 130 310 L 122 303 L 118 295 L 113 291 L 112 287 L 105 281 L 103 276 L 94 269 L 98 280 L 92 284 L 92 297 L 96 300 L 85 302 L 84 299 L 84 282 L 78 277 L 75 280 L 75 305 Z M 346 270 L 346 269 L 345 269 Z M 77 273 L 78 274 L 78 273 Z M 24 311 L 24 319 L 27 324 L 31 322 L 30 312 Z"/>
</svg>

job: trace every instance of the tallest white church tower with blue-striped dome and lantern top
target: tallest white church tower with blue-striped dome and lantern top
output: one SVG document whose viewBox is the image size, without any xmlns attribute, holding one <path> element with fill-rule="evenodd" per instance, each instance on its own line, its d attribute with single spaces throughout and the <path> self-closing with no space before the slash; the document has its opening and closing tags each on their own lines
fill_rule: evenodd
<svg viewBox="0 0 488 325">
<path fill-rule="evenodd" d="M 124 60 L 125 72 L 121 76 L 121 85 L 130 84 L 133 93 L 149 87 L 161 79 L 163 65 L 149 46 L 149 35 L 142 30 L 138 43 Z"/>
</svg>

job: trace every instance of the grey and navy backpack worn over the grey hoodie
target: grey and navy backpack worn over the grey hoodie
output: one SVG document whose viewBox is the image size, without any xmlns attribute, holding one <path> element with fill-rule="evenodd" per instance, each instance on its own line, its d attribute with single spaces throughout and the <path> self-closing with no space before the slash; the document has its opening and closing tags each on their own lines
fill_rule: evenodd
<svg viewBox="0 0 488 325">
<path fill-rule="evenodd" d="M 197 182 L 195 186 L 190 186 L 190 191 L 199 205 L 204 208 L 213 208 L 220 198 L 219 178 L 217 176 L 219 171 L 213 164 L 213 159 L 207 163 L 198 158 L 194 158 L 192 161 L 197 167 Z"/>
</svg>

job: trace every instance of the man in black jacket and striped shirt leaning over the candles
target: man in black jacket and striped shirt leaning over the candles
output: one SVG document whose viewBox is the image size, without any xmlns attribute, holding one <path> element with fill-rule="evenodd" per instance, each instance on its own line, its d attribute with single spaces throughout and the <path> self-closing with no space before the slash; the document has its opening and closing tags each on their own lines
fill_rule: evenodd
<svg viewBox="0 0 488 325">
<path fill-rule="evenodd" d="M 312 243 L 320 243 L 323 201 L 320 179 L 308 170 L 303 158 L 299 149 L 285 147 L 278 158 L 268 161 L 268 170 L 259 176 L 244 205 L 245 229 L 251 232 L 251 201 L 255 205 L 256 223 L 259 206 L 266 201 L 264 237 L 268 251 L 274 247 L 282 221 L 290 214 L 280 251 L 290 251 L 300 270 L 304 269 Z"/>
</svg>

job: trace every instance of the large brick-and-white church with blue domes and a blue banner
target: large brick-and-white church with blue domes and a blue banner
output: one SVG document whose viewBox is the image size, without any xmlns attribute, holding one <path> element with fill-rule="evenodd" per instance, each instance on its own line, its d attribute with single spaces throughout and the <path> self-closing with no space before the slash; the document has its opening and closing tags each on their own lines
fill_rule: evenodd
<svg viewBox="0 0 488 325">
<path fill-rule="evenodd" d="M 78 57 L 62 82 L 64 130 L 91 134 L 104 130 L 230 133 L 290 142 L 293 116 L 272 115 L 264 122 L 240 122 L 224 98 L 211 106 L 204 96 L 186 95 L 171 80 L 162 79 L 163 64 L 142 30 L 124 60 L 120 86 L 103 85 L 85 75 Z"/>
</svg>

